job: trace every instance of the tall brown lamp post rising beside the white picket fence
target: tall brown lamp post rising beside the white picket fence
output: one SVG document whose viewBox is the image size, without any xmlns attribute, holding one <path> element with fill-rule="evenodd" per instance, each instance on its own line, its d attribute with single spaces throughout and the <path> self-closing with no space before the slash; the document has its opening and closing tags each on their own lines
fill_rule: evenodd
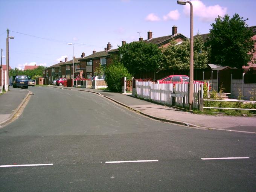
<svg viewBox="0 0 256 192">
<path fill-rule="evenodd" d="M 179 5 L 190 4 L 190 72 L 189 72 L 189 110 L 193 109 L 194 95 L 194 38 L 193 38 L 193 5 L 187 0 L 178 0 Z"/>
</svg>

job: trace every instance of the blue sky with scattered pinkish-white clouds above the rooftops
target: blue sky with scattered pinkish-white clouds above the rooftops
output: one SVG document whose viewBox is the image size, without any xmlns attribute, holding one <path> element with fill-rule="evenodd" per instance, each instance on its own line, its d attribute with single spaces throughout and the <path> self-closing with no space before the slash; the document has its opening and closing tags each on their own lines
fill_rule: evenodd
<svg viewBox="0 0 256 192">
<path fill-rule="evenodd" d="M 194 35 L 209 32 L 218 15 L 238 13 L 249 26 L 256 25 L 255 0 L 191 0 Z M 6 64 L 6 30 L 9 29 L 9 64 L 52 66 L 59 61 L 111 49 L 125 40 L 138 41 L 178 33 L 190 35 L 190 6 L 177 0 L 0 0 L 0 49 Z M 140 33 L 138 33 L 140 32 Z"/>
</svg>

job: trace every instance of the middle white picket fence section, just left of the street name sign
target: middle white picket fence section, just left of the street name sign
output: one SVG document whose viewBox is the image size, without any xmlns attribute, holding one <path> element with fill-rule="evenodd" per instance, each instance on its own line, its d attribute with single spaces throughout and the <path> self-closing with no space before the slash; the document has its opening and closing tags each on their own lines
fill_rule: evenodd
<svg viewBox="0 0 256 192">
<path fill-rule="evenodd" d="M 150 98 L 154 102 L 172 105 L 173 84 L 151 84 Z"/>
</svg>

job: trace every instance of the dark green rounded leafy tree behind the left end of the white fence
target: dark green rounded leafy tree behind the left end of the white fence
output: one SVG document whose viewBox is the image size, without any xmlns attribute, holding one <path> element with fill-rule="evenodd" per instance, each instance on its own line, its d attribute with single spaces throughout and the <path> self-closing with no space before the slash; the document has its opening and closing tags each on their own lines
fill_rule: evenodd
<svg viewBox="0 0 256 192">
<path fill-rule="evenodd" d="M 119 47 L 121 63 L 131 74 L 137 72 L 158 72 L 162 69 L 163 55 L 156 44 L 143 41 L 132 42 Z"/>
</svg>

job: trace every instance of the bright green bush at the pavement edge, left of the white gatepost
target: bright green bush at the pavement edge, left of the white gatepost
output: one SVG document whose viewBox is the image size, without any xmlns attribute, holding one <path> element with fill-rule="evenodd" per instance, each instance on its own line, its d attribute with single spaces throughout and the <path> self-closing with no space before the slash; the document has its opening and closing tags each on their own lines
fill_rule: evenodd
<svg viewBox="0 0 256 192">
<path fill-rule="evenodd" d="M 113 64 L 110 64 L 107 66 L 107 69 L 105 71 L 106 79 L 108 88 L 111 91 L 115 92 L 121 92 L 122 91 L 122 85 L 121 85 L 121 78 L 126 77 L 126 80 L 131 79 L 131 74 L 128 72 L 128 70 L 120 64 L 120 62 L 114 62 Z"/>
</svg>

